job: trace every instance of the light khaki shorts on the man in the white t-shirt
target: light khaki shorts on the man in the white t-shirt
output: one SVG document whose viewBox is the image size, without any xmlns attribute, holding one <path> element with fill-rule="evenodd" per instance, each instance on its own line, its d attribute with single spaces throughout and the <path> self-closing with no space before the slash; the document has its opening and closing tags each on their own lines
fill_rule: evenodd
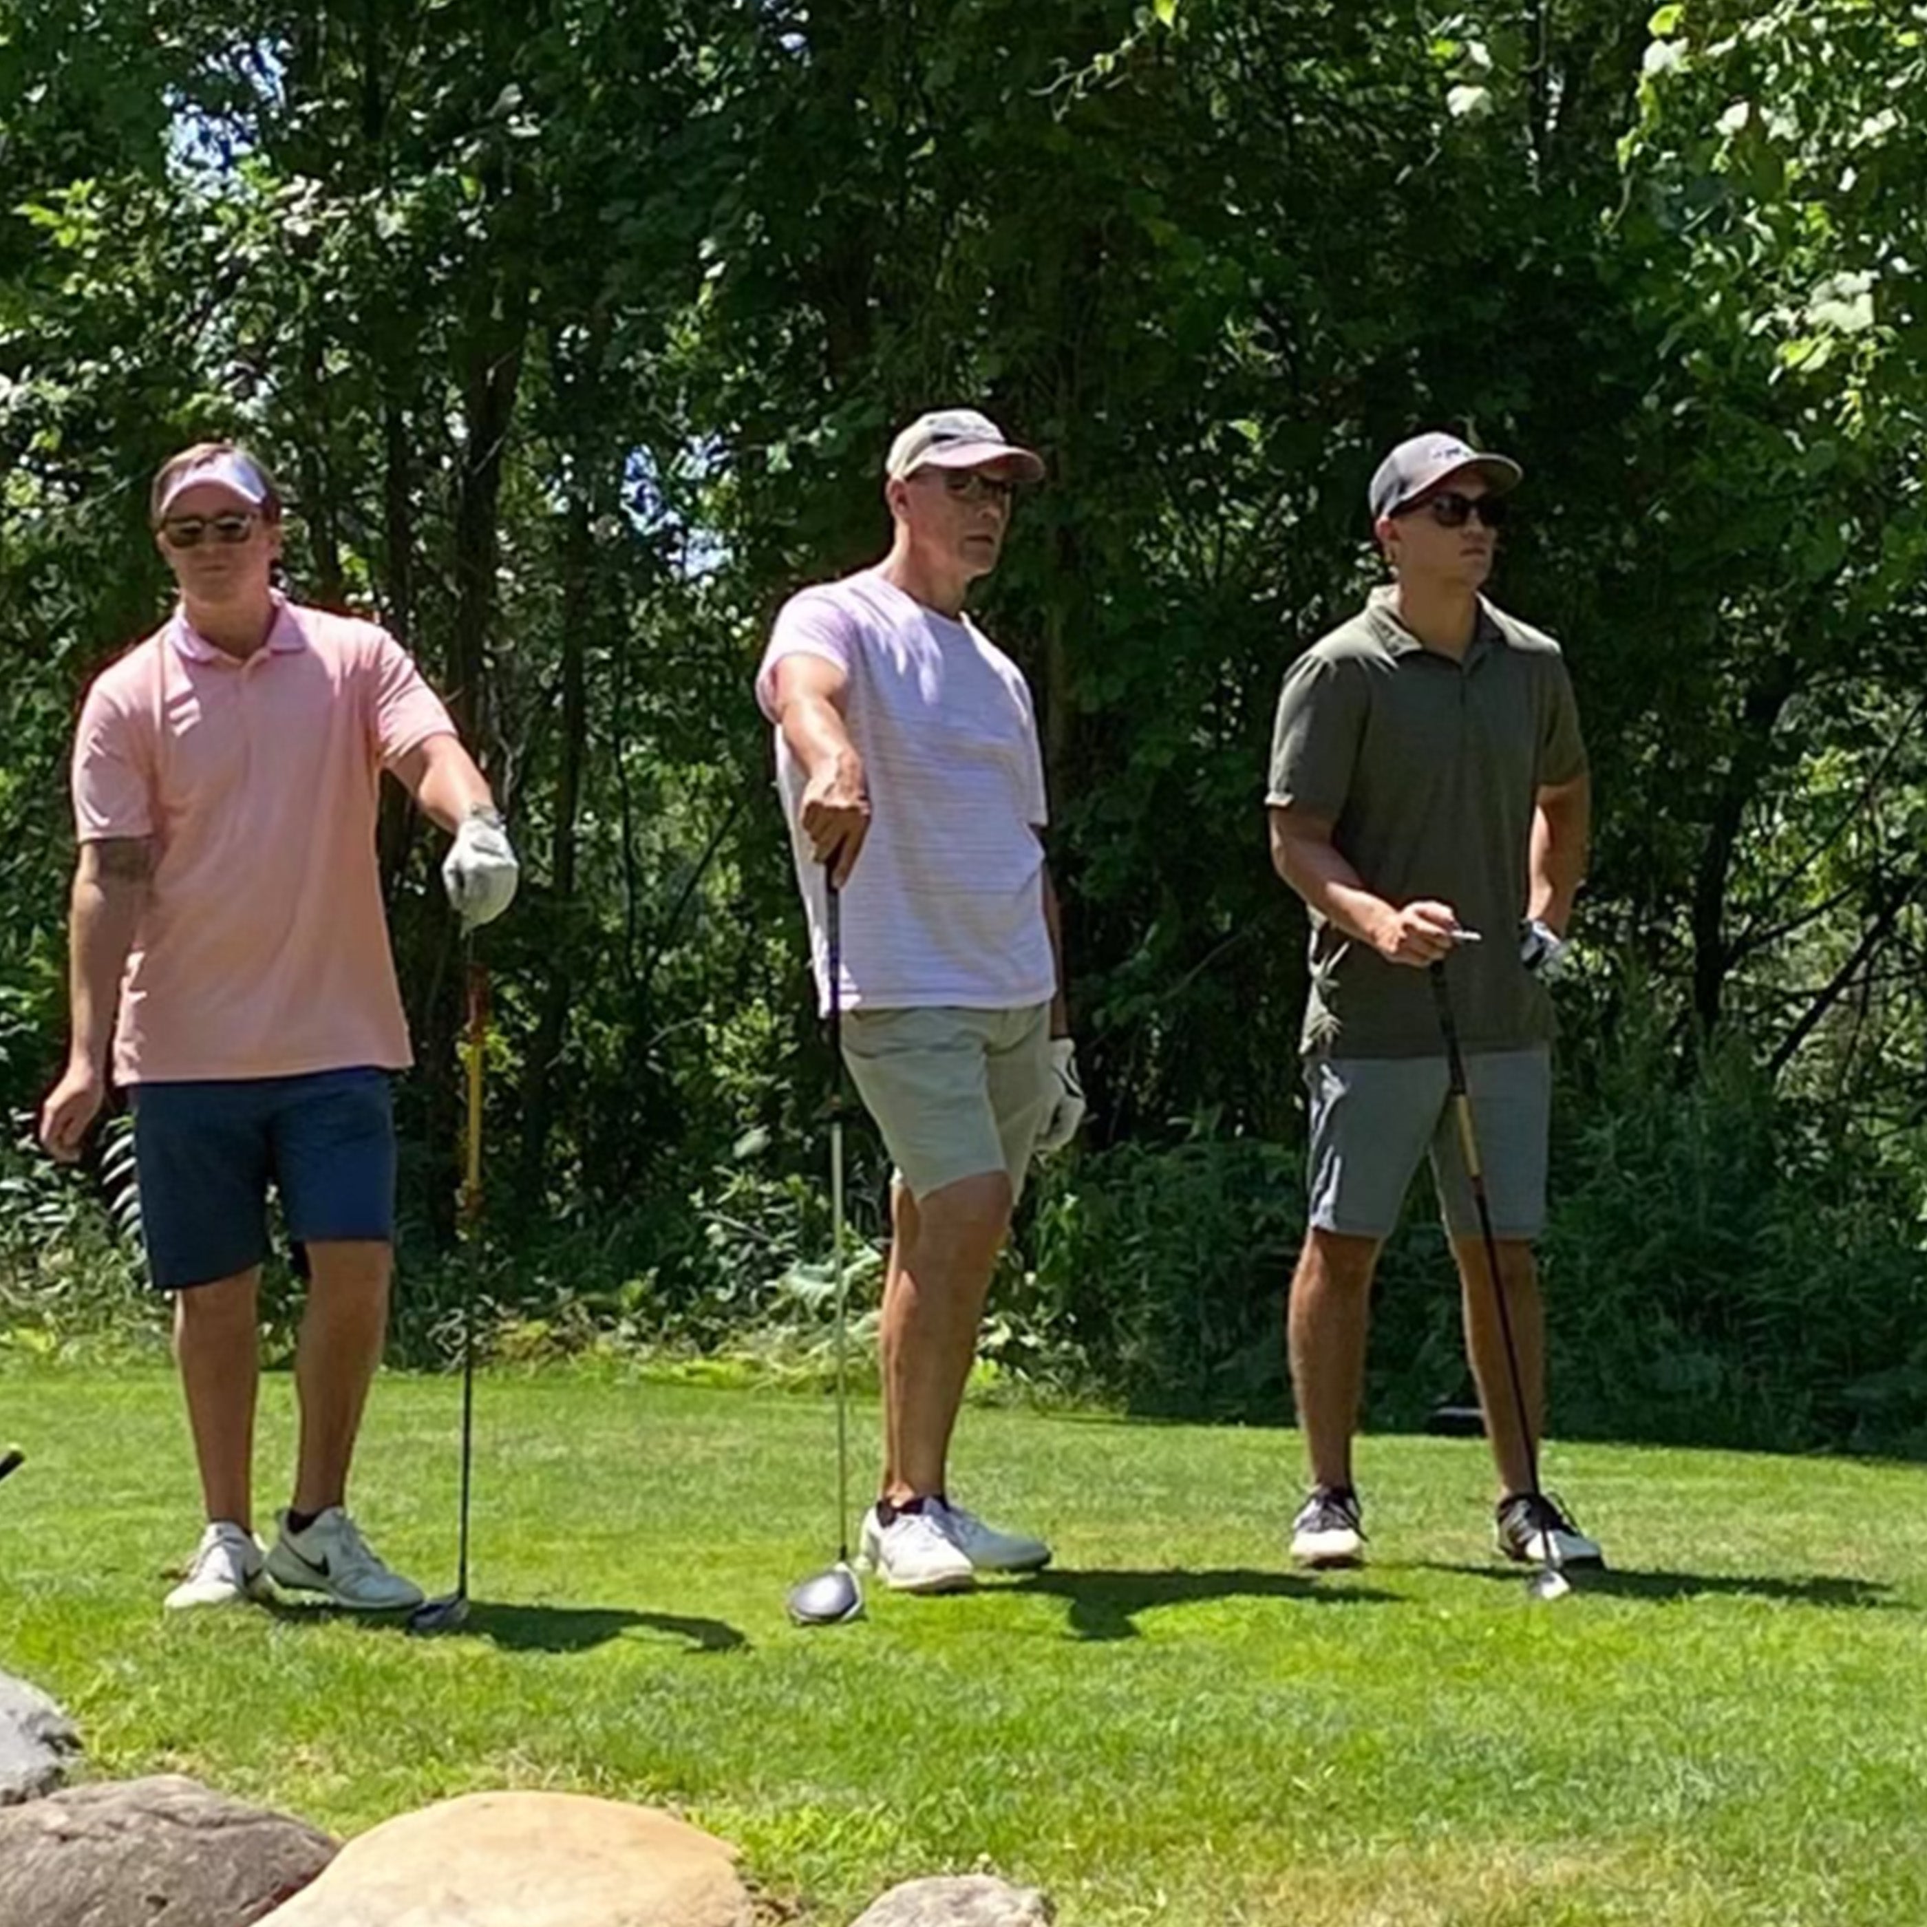
<svg viewBox="0 0 1927 1927">
<path fill-rule="evenodd" d="M 852 1010 L 844 1062 L 877 1120 L 896 1175 L 923 1199 L 983 1172 L 1023 1195 L 1050 1116 L 1050 1006 L 1023 1010 Z"/>
</svg>

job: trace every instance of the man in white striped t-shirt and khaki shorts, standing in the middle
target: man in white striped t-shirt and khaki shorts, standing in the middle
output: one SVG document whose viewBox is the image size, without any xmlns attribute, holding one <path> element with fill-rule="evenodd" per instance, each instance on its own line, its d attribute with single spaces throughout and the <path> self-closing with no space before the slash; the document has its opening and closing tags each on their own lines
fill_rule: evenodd
<svg viewBox="0 0 1927 1927">
<path fill-rule="evenodd" d="M 1044 464 L 971 409 L 890 449 L 896 536 L 777 617 L 757 701 L 829 1008 L 825 869 L 842 892 L 844 1060 L 896 1164 L 883 1287 L 883 1491 L 861 1551 L 898 1592 L 1050 1561 L 948 1491 L 950 1434 L 1031 1154 L 1083 1116 L 1023 674 L 964 615 Z M 861 858 L 861 861 L 859 861 Z"/>
</svg>

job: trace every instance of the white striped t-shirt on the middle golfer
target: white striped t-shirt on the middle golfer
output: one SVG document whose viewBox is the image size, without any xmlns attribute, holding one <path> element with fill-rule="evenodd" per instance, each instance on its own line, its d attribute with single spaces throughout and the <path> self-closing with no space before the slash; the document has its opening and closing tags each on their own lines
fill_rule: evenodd
<svg viewBox="0 0 1927 1927">
<path fill-rule="evenodd" d="M 869 784 L 869 836 L 842 892 L 844 1008 L 1050 1002 L 1044 765 L 1017 665 L 967 617 L 927 609 L 875 568 L 782 605 L 755 676 L 771 723 L 786 655 L 848 674 L 850 740 Z M 829 1010 L 823 865 L 798 821 L 804 771 L 780 728 L 777 786 Z"/>
</svg>

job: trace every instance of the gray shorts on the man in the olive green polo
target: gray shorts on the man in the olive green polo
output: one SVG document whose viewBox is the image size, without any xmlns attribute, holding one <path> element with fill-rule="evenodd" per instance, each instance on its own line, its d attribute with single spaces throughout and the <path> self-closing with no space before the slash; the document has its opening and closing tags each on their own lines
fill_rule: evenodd
<svg viewBox="0 0 1927 1927">
<path fill-rule="evenodd" d="M 1551 1050 L 1486 1050 L 1465 1060 L 1472 1135 L 1497 1237 L 1545 1229 L 1545 1154 L 1553 1108 Z M 1459 1148 L 1445 1058 L 1308 1058 L 1312 1098 L 1310 1222 L 1320 1231 L 1389 1237 L 1430 1154 L 1439 1212 L 1453 1237 L 1478 1237 L 1478 1208 Z"/>
</svg>

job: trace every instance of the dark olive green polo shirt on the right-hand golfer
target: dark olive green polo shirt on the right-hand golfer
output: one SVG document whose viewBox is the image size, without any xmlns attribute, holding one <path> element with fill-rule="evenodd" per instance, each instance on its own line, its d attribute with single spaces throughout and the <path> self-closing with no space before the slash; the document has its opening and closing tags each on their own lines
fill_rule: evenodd
<svg viewBox="0 0 1927 1927">
<path fill-rule="evenodd" d="M 1387 904 L 1434 898 L 1484 942 L 1449 964 L 1466 1050 L 1547 1043 L 1553 1008 L 1518 962 L 1540 788 L 1586 771 L 1559 644 L 1480 601 L 1463 661 L 1428 649 L 1376 590 L 1287 671 L 1266 804 L 1332 823 Z M 1441 1048 L 1426 971 L 1387 964 L 1312 911 L 1305 1050 L 1403 1058 Z"/>
</svg>

